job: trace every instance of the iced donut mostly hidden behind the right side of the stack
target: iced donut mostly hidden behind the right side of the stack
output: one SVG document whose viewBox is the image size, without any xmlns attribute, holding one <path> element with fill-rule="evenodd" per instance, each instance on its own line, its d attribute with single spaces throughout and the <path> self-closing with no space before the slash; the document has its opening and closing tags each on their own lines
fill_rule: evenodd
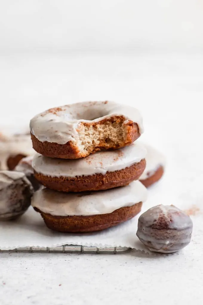
<svg viewBox="0 0 203 305">
<path fill-rule="evenodd" d="M 148 188 L 162 178 L 166 165 L 166 158 L 161 152 L 150 145 L 142 144 L 147 149 L 147 155 L 145 156 L 146 167 L 139 180 Z"/>
</svg>

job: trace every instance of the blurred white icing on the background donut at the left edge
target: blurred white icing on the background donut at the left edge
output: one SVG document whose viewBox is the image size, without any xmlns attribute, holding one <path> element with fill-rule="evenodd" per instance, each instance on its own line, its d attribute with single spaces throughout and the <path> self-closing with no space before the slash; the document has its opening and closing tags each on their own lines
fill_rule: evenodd
<svg viewBox="0 0 203 305">
<path fill-rule="evenodd" d="M 29 156 L 34 154 L 30 135 L 0 134 L 0 169 L 7 170 L 7 160 L 18 154 Z"/>
</svg>

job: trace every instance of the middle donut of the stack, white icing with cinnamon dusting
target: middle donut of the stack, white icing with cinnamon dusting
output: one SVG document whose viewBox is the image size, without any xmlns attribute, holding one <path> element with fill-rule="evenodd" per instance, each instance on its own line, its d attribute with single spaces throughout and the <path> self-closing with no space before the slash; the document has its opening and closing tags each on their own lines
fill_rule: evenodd
<svg viewBox="0 0 203 305">
<path fill-rule="evenodd" d="M 96 152 L 78 160 L 35 155 L 35 178 L 48 188 L 62 192 L 99 191 L 137 180 L 145 168 L 147 151 L 133 143 L 117 150 Z"/>
</svg>

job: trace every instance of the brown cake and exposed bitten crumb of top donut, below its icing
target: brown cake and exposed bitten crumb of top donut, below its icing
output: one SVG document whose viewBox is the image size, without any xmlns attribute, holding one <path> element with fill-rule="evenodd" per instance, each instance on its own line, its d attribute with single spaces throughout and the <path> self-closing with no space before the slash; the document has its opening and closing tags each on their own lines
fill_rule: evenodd
<svg viewBox="0 0 203 305">
<path fill-rule="evenodd" d="M 80 122 L 75 141 L 66 144 L 41 142 L 31 133 L 33 148 L 44 156 L 64 159 L 86 157 L 102 149 L 118 149 L 140 136 L 137 123 L 125 121 L 123 116 L 113 116 L 96 123 Z"/>
</svg>

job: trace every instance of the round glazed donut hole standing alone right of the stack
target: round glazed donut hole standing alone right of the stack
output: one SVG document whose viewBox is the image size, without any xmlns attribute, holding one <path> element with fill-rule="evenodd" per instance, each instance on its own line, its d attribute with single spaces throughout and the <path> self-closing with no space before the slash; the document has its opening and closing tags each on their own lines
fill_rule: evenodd
<svg viewBox="0 0 203 305">
<path fill-rule="evenodd" d="M 191 218 L 176 206 L 154 206 L 138 220 L 137 237 L 151 251 L 176 252 L 187 246 L 192 235 Z"/>
</svg>

